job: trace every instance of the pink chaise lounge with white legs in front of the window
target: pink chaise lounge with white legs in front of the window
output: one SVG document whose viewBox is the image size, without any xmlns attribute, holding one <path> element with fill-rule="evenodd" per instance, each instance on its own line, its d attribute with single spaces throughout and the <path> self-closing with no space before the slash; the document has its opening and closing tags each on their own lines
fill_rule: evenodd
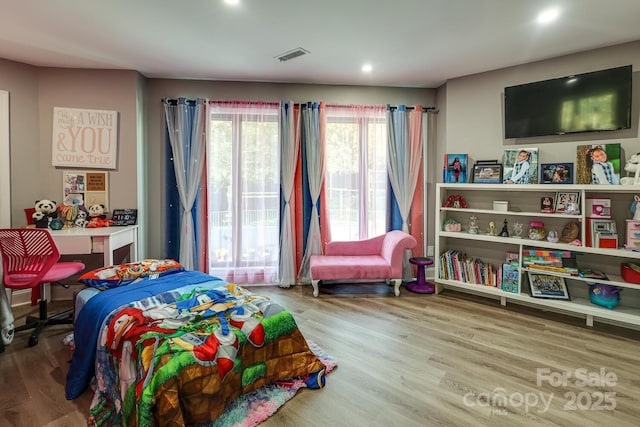
<svg viewBox="0 0 640 427">
<path fill-rule="evenodd" d="M 400 296 L 405 249 L 413 249 L 416 239 L 403 231 L 389 231 L 378 237 L 350 242 L 329 242 L 324 255 L 310 258 L 313 296 L 318 296 L 320 280 L 392 280 Z"/>
</svg>

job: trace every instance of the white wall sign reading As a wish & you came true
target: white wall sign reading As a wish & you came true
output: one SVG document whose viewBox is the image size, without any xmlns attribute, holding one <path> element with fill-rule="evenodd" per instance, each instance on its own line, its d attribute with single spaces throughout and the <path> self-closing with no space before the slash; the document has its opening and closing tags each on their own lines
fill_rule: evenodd
<svg viewBox="0 0 640 427">
<path fill-rule="evenodd" d="M 118 112 L 53 108 L 53 166 L 115 169 Z"/>
</svg>

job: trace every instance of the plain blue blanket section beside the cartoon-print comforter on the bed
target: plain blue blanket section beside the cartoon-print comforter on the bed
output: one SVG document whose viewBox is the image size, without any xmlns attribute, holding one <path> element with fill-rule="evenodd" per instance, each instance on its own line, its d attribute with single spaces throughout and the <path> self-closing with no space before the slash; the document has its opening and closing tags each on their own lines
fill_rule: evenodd
<svg viewBox="0 0 640 427">
<path fill-rule="evenodd" d="M 128 286 L 109 289 L 87 301 L 78 314 L 74 326 L 75 351 L 67 373 L 65 386 L 67 399 L 77 398 L 89 386 L 95 373 L 96 344 L 100 336 L 100 328 L 111 311 L 161 292 L 214 280 L 222 281 L 199 271 L 181 271 L 157 279 L 143 280 Z"/>
</svg>

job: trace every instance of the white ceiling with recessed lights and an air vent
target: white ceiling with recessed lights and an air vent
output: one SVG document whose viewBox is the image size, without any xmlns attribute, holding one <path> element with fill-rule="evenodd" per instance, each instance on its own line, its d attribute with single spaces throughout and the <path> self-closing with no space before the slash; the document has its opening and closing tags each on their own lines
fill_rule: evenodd
<svg viewBox="0 0 640 427">
<path fill-rule="evenodd" d="M 536 24 L 543 8 L 560 17 Z M 0 58 L 150 78 L 435 88 L 640 40 L 638 0 L 0 0 Z M 308 54 L 277 57 L 301 47 Z M 361 71 L 364 63 L 373 71 Z"/>
</svg>

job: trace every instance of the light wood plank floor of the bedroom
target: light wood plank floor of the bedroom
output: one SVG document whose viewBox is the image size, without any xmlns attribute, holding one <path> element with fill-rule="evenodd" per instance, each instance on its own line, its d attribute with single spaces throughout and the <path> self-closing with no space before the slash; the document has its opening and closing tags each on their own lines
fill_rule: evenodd
<svg viewBox="0 0 640 427">
<path fill-rule="evenodd" d="M 338 362 L 324 389 L 302 390 L 261 426 L 638 425 L 640 332 L 448 290 L 250 289 Z M 50 327 L 33 348 L 22 333 L 0 354 L 0 425 L 85 425 L 91 393 L 64 398 L 70 331 Z"/>
</svg>

